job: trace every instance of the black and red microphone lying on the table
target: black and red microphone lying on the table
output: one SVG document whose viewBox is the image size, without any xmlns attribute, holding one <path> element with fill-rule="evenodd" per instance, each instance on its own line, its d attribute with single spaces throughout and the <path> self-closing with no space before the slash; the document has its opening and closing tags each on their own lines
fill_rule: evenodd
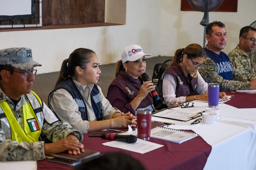
<svg viewBox="0 0 256 170">
<path fill-rule="evenodd" d="M 115 133 L 102 133 L 102 139 L 110 139 L 110 140 L 118 140 L 128 143 L 135 143 L 137 141 L 137 137 L 134 135 L 117 135 Z"/>
</svg>

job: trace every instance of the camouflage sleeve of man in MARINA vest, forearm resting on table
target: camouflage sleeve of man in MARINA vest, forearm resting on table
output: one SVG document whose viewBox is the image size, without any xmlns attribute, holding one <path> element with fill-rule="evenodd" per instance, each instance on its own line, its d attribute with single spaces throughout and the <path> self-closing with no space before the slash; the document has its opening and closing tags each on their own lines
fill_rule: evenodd
<svg viewBox="0 0 256 170">
<path fill-rule="evenodd" d="M 220 76 L 215 67 L 215 63 L 209 58 L 205 57 L 204 67 L 199 69 L 199 73 L 207 83 L 219 83 L 220 91 L 235 91 L 235 90 L 247 90 L 251 89 L 251 83 L 249 81 L 241 82 L 235 80 L 226 80 Z"/>
</svg>

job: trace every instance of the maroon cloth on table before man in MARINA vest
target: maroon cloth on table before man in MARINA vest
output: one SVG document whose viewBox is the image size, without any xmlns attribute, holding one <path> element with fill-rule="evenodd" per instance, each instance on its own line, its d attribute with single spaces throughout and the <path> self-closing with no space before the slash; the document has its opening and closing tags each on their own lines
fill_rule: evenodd
<svg viewBox="0 0 256 170">
<path fill-rule="evenodd" d="M 255 108 L 256 93 L 240 93 L 240 92 L 225 92 L 228 96 L 234 95 L 231 100 L 225 104 L 234 106 L 236 108 Z"/>
</svg>

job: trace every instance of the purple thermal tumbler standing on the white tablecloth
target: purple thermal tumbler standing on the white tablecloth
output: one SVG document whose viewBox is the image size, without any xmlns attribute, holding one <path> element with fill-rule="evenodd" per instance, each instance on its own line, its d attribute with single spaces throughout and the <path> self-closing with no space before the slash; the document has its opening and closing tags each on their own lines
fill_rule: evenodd
<svg viewBox="0 0 256 170">
<path fill-rule="evenodd" d="M 208 83 L 208 107 L 218 107 L 220 84 Z"/>
</svg>

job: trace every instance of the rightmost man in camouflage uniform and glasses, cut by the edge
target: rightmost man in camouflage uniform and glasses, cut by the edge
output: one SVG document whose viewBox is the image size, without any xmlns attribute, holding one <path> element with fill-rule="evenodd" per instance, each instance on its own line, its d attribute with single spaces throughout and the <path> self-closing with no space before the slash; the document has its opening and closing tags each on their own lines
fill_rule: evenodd
<svg viewBox="0 0 256 170">
<path fill-rule="evenodd" d="M 256 78 L 256 29 L 245 26 L 240 30 L 239 44 L 228 53 L 229 58 L 235 63 L 236 69 L 249 80 Z"/>
</svg>

